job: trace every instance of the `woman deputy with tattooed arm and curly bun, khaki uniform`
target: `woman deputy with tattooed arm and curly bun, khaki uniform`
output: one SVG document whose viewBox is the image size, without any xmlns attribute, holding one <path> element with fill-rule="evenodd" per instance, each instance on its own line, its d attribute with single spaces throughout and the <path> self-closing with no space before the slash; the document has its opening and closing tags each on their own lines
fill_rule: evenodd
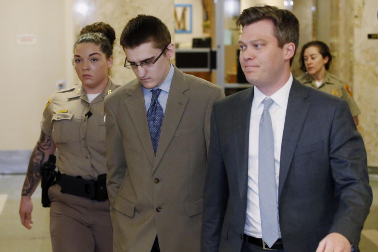
<svg viewBox="0 0 378 252">
<path fill-rule="evenodd" d="M 73 63 L 82 84 L 55 93 L 43 111 L 41 135 L 22 188 L 20 217 L 30 229 L 31 195 L 41 179 L 42 163 L 57 148 L 59 172 L 48 190 L 53 251 L 112 251 L 110 206 L 98 176 L 104 184 L 104 98 L 118 87 L 108 78 L 114 40 L 108 24 L 85 26 L 74 45 Z"/>
</svg>

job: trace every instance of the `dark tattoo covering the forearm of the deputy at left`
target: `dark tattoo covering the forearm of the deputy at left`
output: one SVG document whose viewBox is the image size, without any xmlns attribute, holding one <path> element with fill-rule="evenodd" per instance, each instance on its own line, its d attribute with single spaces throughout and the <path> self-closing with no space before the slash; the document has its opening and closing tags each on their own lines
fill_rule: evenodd
<svg viewBox="0 0 378 252">
<path fill-rule="evenodd" d="M 25 182 L 22 187 L 22 196 L 29 196 L 33 192 L 34 186 L 39 183 L 41 174 L 40 168 L 45 158 L 45 151 L 51 148 L 51 136 L 41 132 L 41 136 L 34 147 L 29 160 L 28 172 L 26 173 Z"/>
</svg>

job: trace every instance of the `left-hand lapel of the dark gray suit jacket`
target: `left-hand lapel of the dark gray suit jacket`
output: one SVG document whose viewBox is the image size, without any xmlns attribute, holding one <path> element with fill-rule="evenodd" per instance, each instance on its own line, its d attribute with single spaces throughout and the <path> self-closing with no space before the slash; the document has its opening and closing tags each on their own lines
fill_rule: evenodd
<svg viewBox="0 0 378 252">
<path fill-rule="evenodd" d="M 235 159 L 239 183 L 239 191 L 242 202 L 246 203 L 248 183 L 248 146 L 249 146 L 249 121 L 251 118 L 251 107 L 253 100 L 253 88 L 245 91 L 239 102 L 235 104 L 233 114 L 232 131 L 235 132 Z"/>
</svg>

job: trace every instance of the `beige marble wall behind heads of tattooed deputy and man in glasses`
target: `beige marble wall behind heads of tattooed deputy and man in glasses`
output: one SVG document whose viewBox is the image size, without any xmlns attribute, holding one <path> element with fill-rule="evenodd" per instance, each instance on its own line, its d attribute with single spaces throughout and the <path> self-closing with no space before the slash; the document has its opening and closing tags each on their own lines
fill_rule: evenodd
<svg viewBox="0 0 378 252">
<path fill-rule="evenodd" d="M 125 84 L 135 75 L 132 70 L 124 68 L 125 54 L 119 45 L 119 37 L 126 23 L 138 14 L 153 15 L 160 18 L 165 23 L 171 33 L 172 41 L 174 41 L 174 0 L 71 0 L 74 10 L 74 27 L 73 33 L 76 36 L 80 29 L 87 24 L 103 21 L 110 24 L 116 31 L 116 41 L 113 50 L 113 67 L 111 76 L 116 84 Z M 88 12 L 83 15 L 76 11 L 79 3 L 87 4 Z M 72 42 L 72 45 L 74 41 Z M 76 75 L 74 75 L 74 83 L 80 83 Z"/>
</svg>

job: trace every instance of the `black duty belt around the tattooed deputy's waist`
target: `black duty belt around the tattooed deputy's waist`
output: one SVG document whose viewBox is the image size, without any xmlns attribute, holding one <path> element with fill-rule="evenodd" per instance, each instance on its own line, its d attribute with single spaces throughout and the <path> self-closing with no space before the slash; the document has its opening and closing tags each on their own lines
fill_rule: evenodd
<svg viewBox="0 0 378 252">
<path fill-rule="evenodd" d="M 56 183 L 62 188 L 62 193 L 68 193 L 91 200 L 104 201 L 108 199 L 106 190 L 106 173 L 100 174 L 98 180 L 83 179 L 80 176 L 73 177 L 61 174 L 56 176 Z"/>
</svg>

